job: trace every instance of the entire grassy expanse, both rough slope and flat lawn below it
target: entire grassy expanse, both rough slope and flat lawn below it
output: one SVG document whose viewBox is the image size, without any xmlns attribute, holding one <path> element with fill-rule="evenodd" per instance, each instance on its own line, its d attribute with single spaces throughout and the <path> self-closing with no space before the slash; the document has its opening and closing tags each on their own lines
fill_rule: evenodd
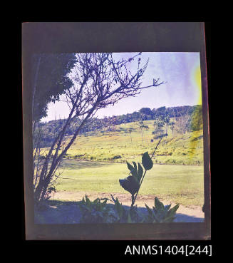
<svg viewBox="0 0 233 263">
<path fill-rule="evenodd" d="M 116 125 L 110 132 L 98 130 L 79 135 L 63 159 L 60 169 L 63 173 L 56 189 L 128 193 L 120 187 L 119 179 L 128 176 L 126 160 L 141 163 L 143 153 L 152 155 L 158 141 L 151 142 L 153 122 L 144 121 L 149 129 L 143 131 L 143 136 L 137 123 Z M 156 195 L 185 206 L 203 205 L 202 130 L 185 134 L 168 130 L 168 136 L 157 148 L 153 163 L 154 167 L 147 172 L 140 188 L 140 195 Z"/>
</svg>

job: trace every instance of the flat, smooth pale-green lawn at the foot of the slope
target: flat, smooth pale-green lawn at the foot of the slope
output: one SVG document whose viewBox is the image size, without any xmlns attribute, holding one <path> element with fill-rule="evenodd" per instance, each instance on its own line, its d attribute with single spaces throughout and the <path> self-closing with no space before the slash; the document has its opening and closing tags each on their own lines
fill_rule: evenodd
<svg viewBox="0 0 233 263">
<path fill-rule="evenodd" d="M 58 191 L 119 192 L 119 179 L 128 176 L 123 163 L 64 160 Z M 156 195 L 180 205 L 202 206 L 204 202 L 203 166 L 154 165 L 145 175 L 140 195 Z M 130 195 L 130 194 L 129 194 Z"/>
</svg>

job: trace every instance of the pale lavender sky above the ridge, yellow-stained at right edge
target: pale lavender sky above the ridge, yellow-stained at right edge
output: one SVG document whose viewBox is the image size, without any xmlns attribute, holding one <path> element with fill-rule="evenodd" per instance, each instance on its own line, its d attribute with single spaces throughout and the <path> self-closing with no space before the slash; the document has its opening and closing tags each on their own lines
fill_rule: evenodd
<svg viewBox="0 0 233 263">
<path fill-rule="evenodd" d="M 134 55 L 135 53 L 113 53 L 116 60 L 130 58 Z M 199 52 L 143 52 L 140 58 L 141 65 L 149 58 L 141 86 L 151 85 L 153 78 L 160 78 L 160 81 L 165 81 L 165 84 L 146 88 L 136 97 L 124 98 L 114 106 L 100 109 L 96 117 L 133 113 L 140 108 L 152 110 L 163 106 L 169 108 L 202 104 Z M 130 71 L 135 72 L 138 68 L 138 61 L 135 60 L 129 65 Z M 67 118 L 68 113 L 69 108 L 65 102 L 50 103 L 48 104 L 48 116 L 42 121 Z"/>
</svg>

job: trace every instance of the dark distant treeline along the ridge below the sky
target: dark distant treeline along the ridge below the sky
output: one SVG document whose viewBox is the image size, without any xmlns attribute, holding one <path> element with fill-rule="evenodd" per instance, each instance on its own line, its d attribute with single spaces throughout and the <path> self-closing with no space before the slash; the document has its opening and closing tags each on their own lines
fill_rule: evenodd
<svg viewBox="0 0 233 263">
<path fill-rule="evenodd" d="M 166 108 L 141 108 L 138 111 L 133 113 L 123 114 L 123 115 L 113 115 L 111 117 L 105 118 L 95 118 L 88 121 L 88 123 L 83 127 L 80 134 L 86 132 L 94 132 L 97 130 L 115 130 L 115 125 L 123 123 L 132 123 L 141 120 L 155 120 L 160 118 L 160 116 L 168 116 L 170 118 L 181 118 L 184 116 L 191 117 L 192 115 L 202 113 L 202 105 L 194 106 L 178 106 Z M 43 147 L 47 147 L 53 142 L 53 139 L 58 135 L 59 131 L 66 123 L 66 119 L 51 120 L 48 123 L 40 123 L 43 130 L 42 141 Z M 81 120 L 75 118 L 71 123 L 70 127 L 66 130 L 66 135 L 73 135 L 75 130 L 78 128 L 78 125 L 81 123 Z"/>
</svg>

